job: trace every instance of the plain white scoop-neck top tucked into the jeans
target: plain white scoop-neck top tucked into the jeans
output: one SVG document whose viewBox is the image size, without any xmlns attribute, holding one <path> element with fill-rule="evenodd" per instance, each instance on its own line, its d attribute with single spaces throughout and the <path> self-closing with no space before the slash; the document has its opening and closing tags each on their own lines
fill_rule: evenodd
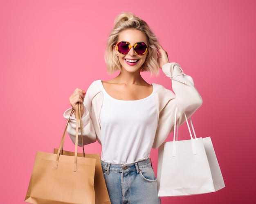
<svg viewBox="0 0 256 204">
<path fill-rule="evenodd" d="M 146 98 L 122 101 L 112 98 L 97 81 L 104 99 L 100 113 L 101 160 L 127 164 L 149 158 L 157 129 L 153 92 Z"/>
</svg>

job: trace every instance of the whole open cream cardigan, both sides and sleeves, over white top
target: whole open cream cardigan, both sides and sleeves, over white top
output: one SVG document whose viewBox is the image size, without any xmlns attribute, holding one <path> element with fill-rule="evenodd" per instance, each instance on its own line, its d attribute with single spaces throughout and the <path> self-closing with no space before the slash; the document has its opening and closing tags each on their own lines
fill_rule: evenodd
<svg viewBox="0 0 256 204">
<path fill-rule="evenodd" d="M 194 86 L 193 79 L 184 74 L 179 64 L 165 64 L 162 70 L 172 80 L 172 88 L 175 94 L 162 85 L 155 84 L 153 97 L 157 108 L 158 125 L 153 143 L 154 149 L 158 148 L 168 134 L 173 131 L 176 107 L 177 118 L 179 118 L 179 125 L 181 125 L 185 121 L 184 112 L 186 112 L 187 117 L 190 117 L 202 105 L 202 98 Z M 85 112 L 82 116 L 84 145 L 94 143 L 96 140 L 101 144 L 100 112 L 102 102 L 103 93 L 98 85 L 93 82 L 88 88 L 84 100 Z M 72 108 L 65 111 L 64 117 L 66 119 L 69 118 L 71 110 Z M 74 115 L 70 119 L 67 132 L 74 143 L 76 134 L 76 118 Z M 80 140 L 79 145 L 82 145 Z"/>
</svg>

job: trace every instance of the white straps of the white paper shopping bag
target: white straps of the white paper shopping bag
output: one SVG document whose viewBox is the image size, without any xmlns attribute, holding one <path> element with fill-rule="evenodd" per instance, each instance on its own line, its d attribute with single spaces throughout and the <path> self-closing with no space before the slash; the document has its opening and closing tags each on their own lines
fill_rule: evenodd
<svg viewBox="0 0 256 204">
<path fill-rule="evenodd" d="M 195 129 L 194 129 L 191 117 L 189 118 L 189 120 L 190 120 L 191 128 L 192 128 L 192 131 L 193 131 L 193 135 L 194 135 L 195 138 L 193 138 L 193 136 L 192 136 L 191 129 L 189 127 L 189 121 L 188 121 L 188 119 L 186 117 L 186 113 L 185 112 L 184 112 L 184 116 L 186 118 L 186 124 L 187 124 L 188 129 L 189 129 L 189 135 L 190 135 L 190 138 L 191 138 L 191 147 L 192 147 L 193 154 L 197 154 L 196 145 L 195 145 L 195 138 L 197 138 L 197 137 L 195 135 Z M 174 130 L 173 130 L 173 156 L 177 156 L 177 141 L 178 141 L 177 107 L 175 109 L 175 117 L 174 117 L 174 119 L 175 119 L 175 121 L 174 121 Z"/>
</svg>

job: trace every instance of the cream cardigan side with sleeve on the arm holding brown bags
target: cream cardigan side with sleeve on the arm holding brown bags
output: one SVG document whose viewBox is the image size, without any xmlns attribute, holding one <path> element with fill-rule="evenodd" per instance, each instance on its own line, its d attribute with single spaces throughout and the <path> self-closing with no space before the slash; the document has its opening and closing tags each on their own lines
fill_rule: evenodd
<svg viewBox="0 0 256 204">
<path fill-rule="evenodd" d="M 92 104 L 92 99 L 94 98 L 95 94 L 97 93 L 95 89 L 95 84 L 92 83 L 90 87 L 88 88 L 86 94 L 85 94 L 85 99 L 84 99 L 84 107 L 85 107 L 85 112 L 83 116 L 81 117 L 81 122 L 82 122 L 82 133 L 83 133 L 83 145 L 88 145 L 90 143 L 94 143 L 96 141 L 96 133 L 94 130 L 94 126 L 92 123 L 91 119 L 91 104 Z M 64 118 L 68 120 L 70 113 L 72 111 L 72 108 L 66 110 L 64 112 Z M 69 134 L 71 140 L 73 143 L 75 143 L 75 138 L 76 138 L 76 118 L 74 114 L 70 117 L 70 122 L 67 127 L 67 133 Z M 78 145 L 82 146 L 82 141 L 81 141 L 81 127 L 79 123 L 79 141 Z"/>
</svg>

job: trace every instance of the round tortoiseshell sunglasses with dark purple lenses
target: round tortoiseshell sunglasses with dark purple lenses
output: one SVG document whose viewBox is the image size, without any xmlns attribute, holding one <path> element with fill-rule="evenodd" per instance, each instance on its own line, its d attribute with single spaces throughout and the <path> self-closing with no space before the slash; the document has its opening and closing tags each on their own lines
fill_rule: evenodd
<svg viewBox="0 0 256 204">
<path fill-rule="evenodd" d="M 129 45 L 128 42 L 119 42 L 117 43 L 117 50 L 119 53 L 125 55 L 127 54 L 130 49 L 133 48 L 134 52 L 137 55 L 144 55 L 148 50 L 147 45 L 144 42 L 137 42 L 134 46 Z"/>
</svg>

